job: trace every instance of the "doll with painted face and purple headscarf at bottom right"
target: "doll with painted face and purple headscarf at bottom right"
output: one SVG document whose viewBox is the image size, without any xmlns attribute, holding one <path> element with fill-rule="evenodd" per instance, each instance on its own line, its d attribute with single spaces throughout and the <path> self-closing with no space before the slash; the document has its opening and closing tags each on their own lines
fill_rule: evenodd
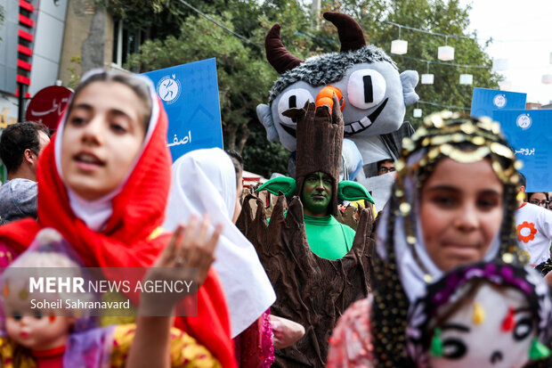
<svg viewBox="0 0 552 368">
<path fill-rule="evenodd" d="M 520 368 L 550 356 L 550 323 L 550 291 L 532 267 L 481 262 L 427 286 L 410 310 L 407 352 L 419 368 Z"/>
</svg>

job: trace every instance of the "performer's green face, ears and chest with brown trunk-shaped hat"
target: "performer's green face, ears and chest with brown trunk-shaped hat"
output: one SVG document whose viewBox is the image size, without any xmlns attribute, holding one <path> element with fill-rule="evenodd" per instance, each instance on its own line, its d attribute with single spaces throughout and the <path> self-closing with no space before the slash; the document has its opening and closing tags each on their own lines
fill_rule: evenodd
<svg viewBox="0 0 552 368">
<path fill-rule="evenodd" d="M 331 103 L 337 105 L 337 95 L 335 98 Z M 341 220 L 337 199 L 343 200 L 345 196 L 347 200 L 371 203 L 373 200 L 361 185 L 337 180 L 343 117 L 339 109 L 331 111 L 329 119 L 327 109 L 317 109 L 314 103 L 307 102 L 304 109 L 284 113 L 297 121 L 296 179 L 276 177 L 256 191 L 267 190 L 275 195 L 281 191 L 287 197 L 298 195 L 303 203 L 306 238 L 311 250 L 321 258 L 336 260 L 351 250 L 355 235 L 353 228 L 337 221 L 337 218 Z M 324 154 L 320 154 L 321 147 Z"/>
</svg>

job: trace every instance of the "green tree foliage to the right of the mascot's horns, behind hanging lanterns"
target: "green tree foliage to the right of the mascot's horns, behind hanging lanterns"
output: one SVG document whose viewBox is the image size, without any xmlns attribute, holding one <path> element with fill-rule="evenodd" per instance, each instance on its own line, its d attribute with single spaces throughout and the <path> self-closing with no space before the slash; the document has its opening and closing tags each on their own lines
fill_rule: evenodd
<svg viewBox="0 0 552 368">
<path fill-rule="evenodd" d="M 491 72 L 492 61 L 484 48 L 475 41 L 476 33 L 468 33 L 470 7 L 463 8 L 459 0 L 387 0 L 387 1 L 357 1 L 345 0 L 340 4 L 335 2 L 323 3 L 326 10 L 347 12 L 354 14 L 359 21 L 367 42 L 371 42 L 384 50 L 397 62 L 399 70 L 418 70 L 421 76 L 427 71 L 434 74 L 434 85 L 416 87 L 420 101 L 435 102 L 446 106 L 470 108 L 474 86 L 483 88 L 497 88 L 501 77 Z M 428 32 L 443 35 L 466 36 L 467 38 L 435 36 L 410 29 L 401 29 L 401 39 L 409 42 L 408 53 L 395 55 L 391 53 L 391 42 L 399 38 L 399 28 L 389 24 L 401 24 L 415 29 L 424 29 Z M 324 36 L 326 35 L 326 36 Z M 336 29 L 324 27 L 319 33 L 321 37 L 337 38 Z M 446 61 L 460 65 L 476 65 L 487 68 L 463 68 L 442 64 L 437 60 L 439 46 L 451 45 L 454 47 L 454 60 Z M 488 45 L 491 40 L 487 41 Z M 426 63 L 414 60 L 439 61 Z M 460 85 L 460 74 L 472 74 L 472 86 Z M 434 111 L 444 110 L 440 106 L 419 103 L 407 108 L 405 119 L 418 127 L 423 118 L 412 117 L 415 108 L 423 110 L 427 116 Z M 455 109 L 451 109 L 455 110 Z M 464 112 L 469 112 L 464 110 Z"/>
</svg>

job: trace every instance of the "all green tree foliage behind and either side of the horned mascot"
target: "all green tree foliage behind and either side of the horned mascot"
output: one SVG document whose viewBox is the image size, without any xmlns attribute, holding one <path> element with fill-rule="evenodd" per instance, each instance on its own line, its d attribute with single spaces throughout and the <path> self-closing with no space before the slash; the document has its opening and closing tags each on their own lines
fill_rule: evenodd
<svg viewBox="0 0 552 368">
<path fill-rule="evenodd" d="M 278 74 L 264 56 L 264 37 L 280 22 L 281 37 L 288 51 L 305 59 L 337 52 L 337 29 L 320 16 L 313 16 L 306 0 L 186 0 L 200 12 L 227 29 L 248 38 L 244 41 L 191 9 L 179 0 L 111 0 L 110 11 L 136 28 L 148 29 L 152 40 L 131 57 L 128 67 L 138 71 L 157 70 L 190 61 L 216 58 L 220 91 L 223 135 L 226 148 L 242 152 L 246 168 L 270 176 L 287 172 L 289 153 L 280 143 L 268 143 L 264 127 L 256 118 L 256 105 L 267 101 L 268 91 Z M 399 38 L 399 29 L 386 21 L 416 29 L 448 35 L 468 34 L 469 7 L 459 0 L 322 0 L 321 12 L 345 12 L 358 20 L 368 42 L 390 53 L 391 41 Z M 309 37 L 311 36 L 311 37 Z M 402 29 L 401 38 L 409 41 L 403 57 L 391 54 L 399 70 L 418 70 L 424 74 L 426 62 L 437 61 L 437 47 L 444 37 Z M 455 48 L 455 60 L 463 65 L 491 66 L 482 46 L 471 39 L 449 37 Z M 473 86 L 459 85 L 459 74 L 474 75 L 474 86 L 496 88 L 499 76 L 490 69 L 465 69 L 430 63 L 434 85 L 418 84 L 420 100 L 442 105 L 469 107 Z M 415 126 L 421 119 L 405 119 Z M 419 104 L 424 116 L 442 107 Z"/>
</svg>

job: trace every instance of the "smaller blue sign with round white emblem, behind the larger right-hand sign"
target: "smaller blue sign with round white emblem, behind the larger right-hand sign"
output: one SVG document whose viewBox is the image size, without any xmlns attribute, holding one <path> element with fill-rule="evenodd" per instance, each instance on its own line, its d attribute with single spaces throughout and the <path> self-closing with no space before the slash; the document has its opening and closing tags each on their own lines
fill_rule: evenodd
<svg viewBox="0 0 552 368">
<path fill-rule="evenodd" d="M 525 109 L 527 94 L 499 91 L 497 89 L 474 88 L 471 116 L 492 118 L 493 110 Z"/>
</svg>

